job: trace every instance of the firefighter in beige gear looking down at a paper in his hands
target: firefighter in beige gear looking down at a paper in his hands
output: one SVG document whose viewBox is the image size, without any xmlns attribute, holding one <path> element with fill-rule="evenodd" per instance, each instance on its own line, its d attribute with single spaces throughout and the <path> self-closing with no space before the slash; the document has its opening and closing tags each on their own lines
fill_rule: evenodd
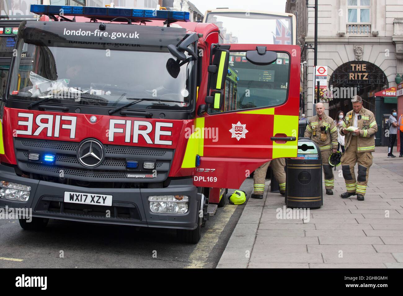
<svg viewBox="0 0 403 296">
<path fill-rule="evenodd" d="M 346 193 L 340 195 L 345 199 L 357 195 L 363 201 L 368 183 L 368 174 L 372 165 L 372 151 L 375 151 L 375 133 L 378 131 L 374 113 L 362 107 L 362 98 L 353 97 L 353 110 L 345 116 L 340 129 L 345 135 L 345 152 L 341 157 L 341 168 L 346 183 Z M 354 127 L 354 131 L 346 130 Z M 358 162 L 358 177 L 355 180 L 354 166 Z"/>
</svg>

